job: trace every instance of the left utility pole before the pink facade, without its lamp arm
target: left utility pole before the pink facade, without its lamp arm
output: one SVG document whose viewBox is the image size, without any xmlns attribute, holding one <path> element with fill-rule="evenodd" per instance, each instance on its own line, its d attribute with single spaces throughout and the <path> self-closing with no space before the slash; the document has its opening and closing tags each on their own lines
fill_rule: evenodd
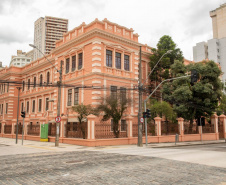
<svg viewBox="0 0 226 185">
<path fill-rule="evenodd" d="M 58 86 L 58 100 L 57 100 L 57 117 L 60 117 L 60 102 L 61 102 L 61 84 L 62 84 L 62 64 L 63 61 L 60 61 L 60 70 L 58 70 L 60 76 L 59 81 L 57 82 Z M 59 135 L 60 135 L 60 123 L 56 123 L 56 138 L 55 146 L 59 146 Z"/>
</svg>

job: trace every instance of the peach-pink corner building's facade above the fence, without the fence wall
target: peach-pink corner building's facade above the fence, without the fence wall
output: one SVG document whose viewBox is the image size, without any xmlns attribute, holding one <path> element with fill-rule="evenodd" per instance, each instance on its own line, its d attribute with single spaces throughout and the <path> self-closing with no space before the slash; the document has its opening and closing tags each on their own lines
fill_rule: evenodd
<svg viewBox="0 0 226 185">
<path fill-rule="evenodd" d="M 45 57 L 41 57 L 21 68 L 10 66 L 1 70 L 2 130 L 3 125 L 16 124 L 17 107 L 19 113 L 26 112 L 26 128 L 55 122 L 58 98 L 56 84 L 59 80 L 57 70 L 60 69 L 61 62 L 64 85 L 60 113 L 66 119 L 62 124 L 77 121 L 78 115 L 73 112 L 72 106 L 97 106 L 101 104 L 102 98 L 121 90 L 132 100 L 123 118 L 129 116 L 137 122 L 139 50 L 141 46 L 141 72 L 144 81 L 149 72 L 151 48 L 140 44 L 138 34 L 133 32 L 132 28 L 128 29 L 107 19 L 96 19 L 90 24 L 82 23 L 56 41 L 55 49 L 46 55 L 54 66 Z M 21 87 L 19 105 L 16 86 Z M 99 122 L 100 117 L 96 117 L 94 121 Z M 19 122 L 22 123 L 20 115 Z M 64 126 L 61 125 L 61 129 Z M 15 130 L 10 132 L 15 133 Z"/>
</svg>

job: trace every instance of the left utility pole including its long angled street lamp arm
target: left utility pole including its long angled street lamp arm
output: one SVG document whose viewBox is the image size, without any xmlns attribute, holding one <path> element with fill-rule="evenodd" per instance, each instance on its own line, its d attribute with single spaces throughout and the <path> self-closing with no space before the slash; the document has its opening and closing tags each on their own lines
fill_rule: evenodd
<svg viewBox="0 0 226 185">
<path fill-rule="evenodd" d="M 42 51 L 35 45 L 29 44 L 29 46 L 33 47 L 34 49 L 37 49 L 40 53 Z M 60 74 L 59 75 L 59 81 L 57 81 L 57 87 L 58 87 L 58 100 L 57 100 L 57 117 L 60 117 L 60 101 L 61 101 L 61 84 L 62 84 L 62 63 L 60 62 L 60 70 L 58 70 L 55 65 L 42 53 L 42 55 L 45 57 L 45 59 L 51 63 L 51 65 L 56 69 L 56 71 Z M 60 135 L 60 123 L 56 123 L 56 138 L 55 138 L 55 146 L 59 146 L 59 135 Z"/>
</svg>

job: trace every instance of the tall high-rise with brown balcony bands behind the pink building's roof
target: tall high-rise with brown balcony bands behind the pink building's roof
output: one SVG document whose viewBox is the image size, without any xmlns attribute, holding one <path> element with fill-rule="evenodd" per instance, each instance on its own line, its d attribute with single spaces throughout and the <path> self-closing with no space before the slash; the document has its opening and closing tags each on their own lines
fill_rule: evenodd
<svg viewBox="0 0 226 185">
<path fill-rule="evenodd" d="M 55 41 L 60 40 L 63 34 L 68 31 L 68 19 L 45 16 L 35 21 L 34 25 L 34 45 L 43 54 L 49 54 L 55 48 Z M 43 55 L 34 50 L 34 60 Z"/>
</svg>

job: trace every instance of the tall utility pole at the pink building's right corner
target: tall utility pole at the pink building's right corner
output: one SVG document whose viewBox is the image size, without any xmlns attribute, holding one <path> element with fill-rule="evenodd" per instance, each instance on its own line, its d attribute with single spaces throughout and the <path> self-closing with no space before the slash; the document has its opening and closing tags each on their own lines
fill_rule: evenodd
<svg viewBox="0 0 226 185">
<path fill-rule="evenodd" d="M 142 82 L 141 82 L 141 47 L 140 46 L 140 62 L 139 62 L 139 84 L 138 84 L 138 90 L 139 90 L 139 110 L 138 110 L 138 142 L 137 146 L 142 147 L 143 146 L 143 135 L 142 135 L 142 123 L 140 122 L 140 118 L 142 117 Z"/>
</svg>

